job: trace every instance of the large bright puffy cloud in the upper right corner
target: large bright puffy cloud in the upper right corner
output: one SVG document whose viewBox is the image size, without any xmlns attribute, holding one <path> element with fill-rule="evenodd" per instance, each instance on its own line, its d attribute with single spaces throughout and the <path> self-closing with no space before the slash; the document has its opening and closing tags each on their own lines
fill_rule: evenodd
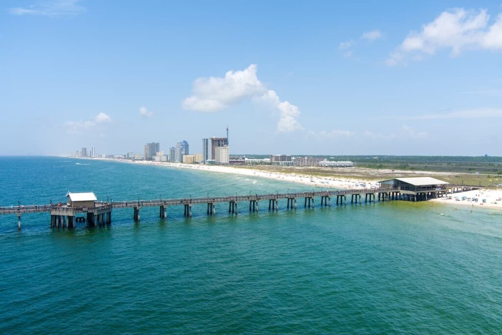
<svg viewBox="0 0 502 335">
<path fill-rule="evenodd" d="M 488 21 L 485 9 L 445 11 L 423 25 L 420 32 L 410 32 L 390 54 L 387 64 L 399 64 L 407 57 L 420 60 L 442 49 L 451 50 L 453 56 L 466 49 L 502 50 L 502 14 L 491 26 Z"/>
</svg>

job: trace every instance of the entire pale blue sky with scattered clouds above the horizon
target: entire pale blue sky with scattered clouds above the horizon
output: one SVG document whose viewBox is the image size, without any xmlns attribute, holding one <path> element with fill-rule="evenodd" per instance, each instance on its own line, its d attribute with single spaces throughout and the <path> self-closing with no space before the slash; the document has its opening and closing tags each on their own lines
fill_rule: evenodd
<svg viewBox="0 0 502 335">
<path fill-rule="evenodd" d="M 502 156 L 502 1 L 4 0 L 0 155 Z"/>
</svg>

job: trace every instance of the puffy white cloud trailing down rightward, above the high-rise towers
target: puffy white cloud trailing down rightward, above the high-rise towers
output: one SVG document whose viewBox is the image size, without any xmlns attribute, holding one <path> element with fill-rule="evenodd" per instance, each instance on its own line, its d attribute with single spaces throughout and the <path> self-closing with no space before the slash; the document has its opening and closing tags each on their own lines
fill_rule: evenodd
<svg viewBox="0 0 502 335">
<path fill-rule="evenodd" d="M 214 112 L 245 99 L 265 101 L 279 111 L 278 133 L 303 129 L 298 122 L 300 109 L 289 101 L 281 101 L 276 91 L 267 89 L 258 79 L 255 64 L 242 71 L 228 71 L 224 77 L 196 79 L 192 95 L 184 99 L 181 105 L 186 110 Z"/>
</svg>

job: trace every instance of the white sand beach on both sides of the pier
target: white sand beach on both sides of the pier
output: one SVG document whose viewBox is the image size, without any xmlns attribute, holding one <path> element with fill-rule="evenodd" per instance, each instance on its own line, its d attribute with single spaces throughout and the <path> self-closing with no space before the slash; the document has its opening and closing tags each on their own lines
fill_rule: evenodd
<svg viewBox="0 0 502 335">
<path fill-rule="evenodd" d="M 85 157 L 71 157 L 71 158 L 79 158 L 79 159 L 96 159 L 101 161 L 114 161 L 119 163 L 128 163 L 128 164 L 142 164 L 142 165 L 153 165 L 153 166 L 162 166 L 167 168 L 174 169 L 189 169 L 195 171 L 207 171 L 207 172 L 219 172 L 219 173 L 228 173 L 234 175 L 241 175 L 247 177 L 258 177 L 265 179 L 275 179 L 288 181 L 291 183 L 310 185 L 316 188 L 334 188 L 334 189 L 363 189 L 363 188 L 372 188 L 378 187 L 378 183 L 370 180 L 356 179 L 356 178 L 332 178 L 332 177 L 318 177 L 318 176 L 309 176 L 309 175 L 301 175 L 296 173 L 280 173 L 280 172 L 267 172 L 263 170 L 249 169 L 249 168 L 239 168 L 233 166 L 221 166 L 221 165 L 199 165 L 199 164 L 184 164 L 184 163 L 173 163 L 173 162 L 154 162 L 154 161 L 128 161 L 123 159 L 116 158 L 85 158 Z M 455 197 L 461 198 L 462 196 L 466 197 L 477 197 L 479 201 L 467 201 L 460 200 L 456 201 Z M 502 201 L 497 200 L 502 198 L 502 190 L 491 190 L 480 188 L 478 190 L 466 191 L 460 193 L 449 194 L 448 197 L 451 199 L 445 198 L 436 198 L 430 199 L 429 201 L 435 203 L 442 203 L 450 206 L 461 206 L 467 207 L 471 206 L 472 208 L 486 208 L 486 209 L 499 209 L 502 210 Z M 486 202 L 483 203 L 481 200 L 486 199 Z M 431 204 L 432 206 L 432 204 Z"/>
</svg>

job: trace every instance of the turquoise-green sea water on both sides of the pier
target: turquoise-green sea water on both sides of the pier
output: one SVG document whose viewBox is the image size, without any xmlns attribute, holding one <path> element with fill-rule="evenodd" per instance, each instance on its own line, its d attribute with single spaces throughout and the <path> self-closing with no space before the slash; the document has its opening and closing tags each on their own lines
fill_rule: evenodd
<svg viewBox="0 0 502 335">
<path fill-rule="evenodd" d="M 77 164 L 79 163 L 79 164 Z M 82 165 L 87 164 L 87 165 Z M 247 180 L 246 180 L 247 179 Z M 255 182 L 256 181 L 256 182 Z M 254 183 L 255 182 L 255 183 Z M 309 189 L 66 158 L 0 158 L 0 204 L 92 190 L 125 200 Z M 502 215 L 386 202 L 192 219 L 114 210 L 109 227 L 0 217 L 0 333 L 498 333 Z M 443 215 L 442 215 L 443 214 Z"/>
</svg>

